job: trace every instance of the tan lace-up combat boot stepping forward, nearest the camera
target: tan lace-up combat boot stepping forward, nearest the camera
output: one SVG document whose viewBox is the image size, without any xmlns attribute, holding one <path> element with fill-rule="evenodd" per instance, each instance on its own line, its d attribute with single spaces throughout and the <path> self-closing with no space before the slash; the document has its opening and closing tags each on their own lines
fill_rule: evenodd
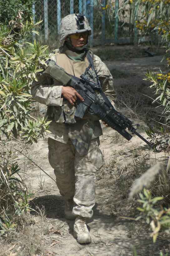
<svg viewBox="0 0 170 256">
<path fill-rule="evenodd" d="M 78 216 L 74 224 L 74 237 L 80 244 L 91 243 L 91 236 L 86 226 L 86 218 Z"/>
</svg>

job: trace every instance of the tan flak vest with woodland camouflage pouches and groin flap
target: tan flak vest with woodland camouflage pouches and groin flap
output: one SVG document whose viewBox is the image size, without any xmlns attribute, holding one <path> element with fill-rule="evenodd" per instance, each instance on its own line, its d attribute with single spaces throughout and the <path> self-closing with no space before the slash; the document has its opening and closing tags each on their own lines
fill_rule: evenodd
<svg viewBox="0 0 170 256">
<path fill-rule="evenodd" d="M 68 58 L 66 54 L 62 52 L 56 52 L 55 62 L 67 73 L 76 77 L 80 77 L 81 74 L 84 74 L 85 69 L 89 67 L 87 57 L 84 58 L 84 61 L 76 62 Z M 90 70 L 92 71 L 91 68 Z M 54 81 L 54 83 L 58 84 L 58 81 Z M 88 116 L 81 120 L 75 119 L 75 111 L 75 106 L 63 99 L 62 106 L 52 106 L 51 114 L 53 115 L 53 120 L 58 123 L 58 128 L 60 127 L 59 129 L 61 129 L 60 124 L 62 123 L 63 132 L 65 129 L 68 131 L 68 137 L 78 154 L 85 155 L 88 152 L 91 139 L 102 135 L 102 130 L 100 122 L 95 119 L 95 121 L 91 120 Z M 57 128 L 55 128 L 55 130 L 56 129 Z"/>
</svg>

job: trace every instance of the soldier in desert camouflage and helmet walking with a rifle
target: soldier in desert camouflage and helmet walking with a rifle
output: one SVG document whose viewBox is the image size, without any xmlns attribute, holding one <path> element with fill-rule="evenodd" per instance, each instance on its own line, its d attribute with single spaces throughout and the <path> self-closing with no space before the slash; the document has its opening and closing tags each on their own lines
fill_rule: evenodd
<svg viewBox="0 0 170 256">
<path fill-rule="evenodd" d="M 114 104 L 113 77 L 100 58 L 87 48 L 91 28 L 86 17 L 82 14 L 67 15 L 61 20 L 59 35 L 64 44 L 53 52 L 51 60 L 71 75 L 89 76 L 101 85 Z M 74 88 L 63 86 L 43 73 L 38 82 L 33 81 L 31 93 L 34 100 L 47 105 L 46 115 L 52 120 L 48 138 L 49 163 L 65 199 L 65 217 L 75 219 L 74 237 L 77 241 L 90 243 L 86 218 L 93 215 L 95 174 L 103 165 L 99 149 L 99 136 L 102 135 L 99 118 L 88 112 L 83 119 L 76 118 L 75 102 L 84 99 Z"/>
</svg>

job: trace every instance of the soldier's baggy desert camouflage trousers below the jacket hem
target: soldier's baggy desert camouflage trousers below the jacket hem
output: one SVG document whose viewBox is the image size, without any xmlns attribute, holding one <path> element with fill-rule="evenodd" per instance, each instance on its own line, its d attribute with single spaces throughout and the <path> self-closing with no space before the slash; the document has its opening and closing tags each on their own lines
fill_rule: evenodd
<svg viewBox="0 0 170 256">
<path fill-rule="evenodd" d="M 95 174 L 103 165 L 99 137 L 91 140 L 88 153 L 80 156 L 71 141 L 67 144 L 48 139 L 49 163 L 56 184 L 65 199 L 75 202 L 72 214 L 91 218 L 95 205 Z"/>
</svg>

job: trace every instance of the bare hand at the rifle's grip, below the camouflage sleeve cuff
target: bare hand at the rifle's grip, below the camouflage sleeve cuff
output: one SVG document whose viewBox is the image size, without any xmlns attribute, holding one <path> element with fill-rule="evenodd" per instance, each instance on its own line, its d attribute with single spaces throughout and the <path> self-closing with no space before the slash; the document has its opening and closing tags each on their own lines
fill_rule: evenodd
<svg viewBox="0 0 170 256">
<path fill-rule="evenodd" d="M 81 95 L 77 91 L 75 91 L 73 87 L 70 86 L 63 86 L 61 94 L 71 103 L 71 105 L 74 105 L 75 101 L 77 100 L 77 97 L 81 101 L 84 101 Z"/>
</svg>

